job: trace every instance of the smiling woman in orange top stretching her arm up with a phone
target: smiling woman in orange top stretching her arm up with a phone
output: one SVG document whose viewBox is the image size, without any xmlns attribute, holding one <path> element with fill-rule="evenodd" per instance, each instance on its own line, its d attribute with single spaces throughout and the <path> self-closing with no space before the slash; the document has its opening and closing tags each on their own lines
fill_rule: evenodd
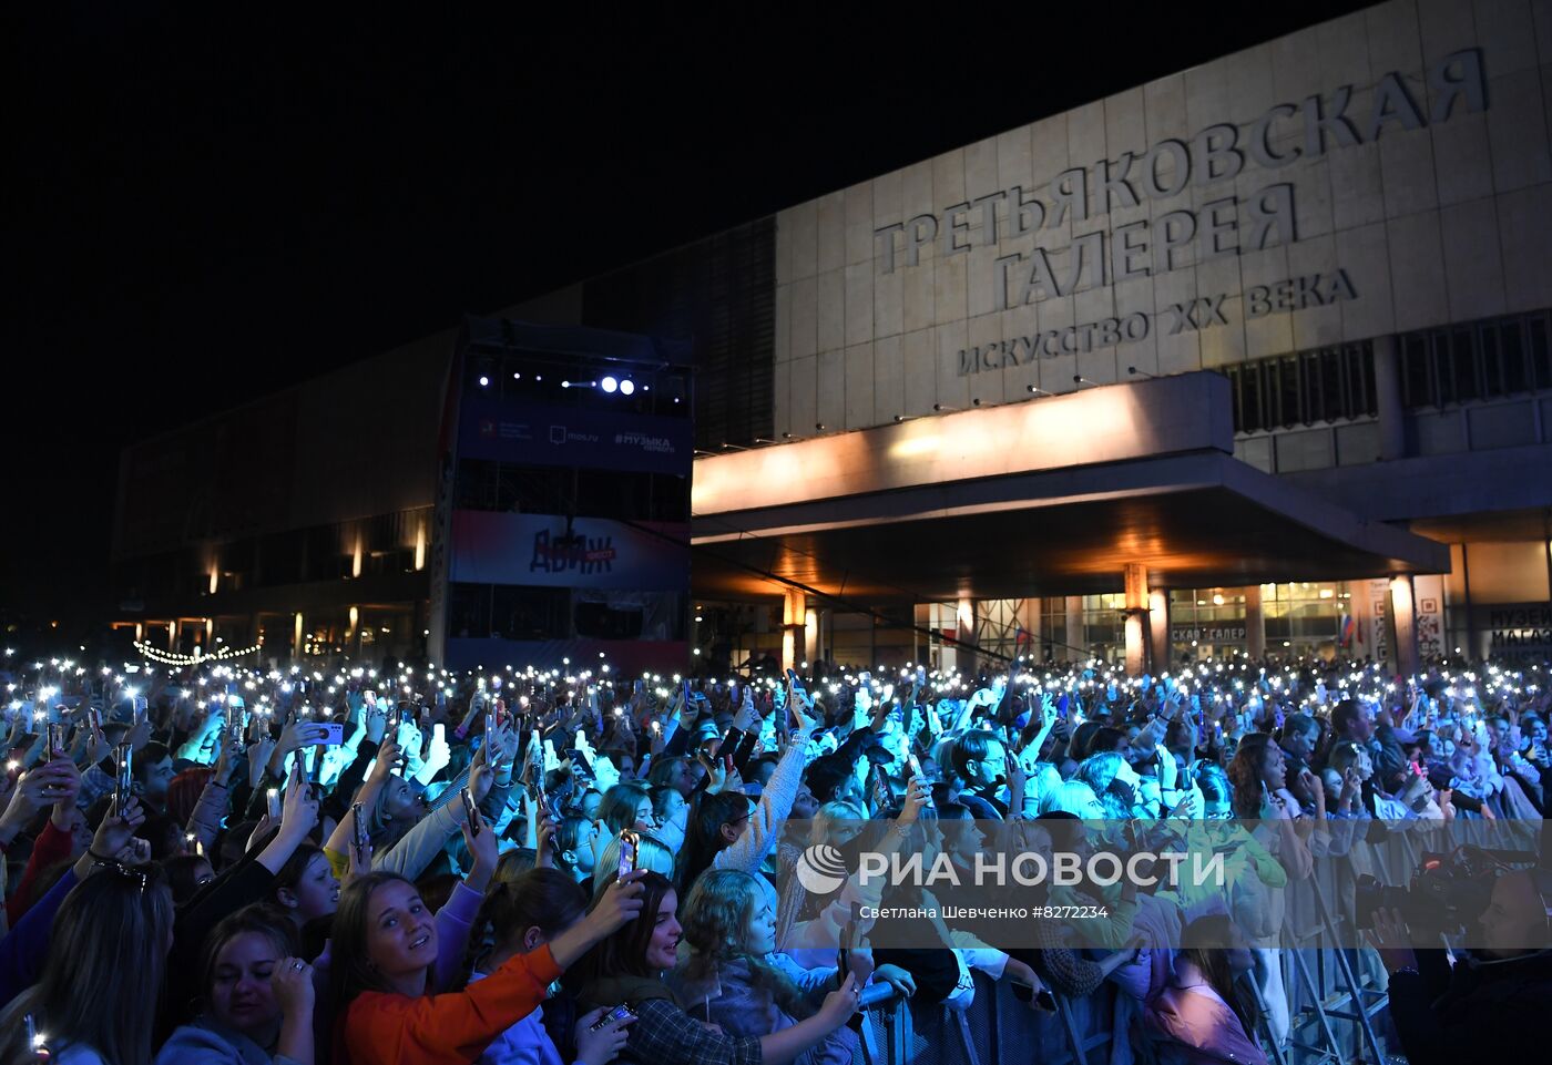
<svg viewBox="0 0 1552 1065">
<path fill-rule="evenodd" d="M 390 872 L 354 880 L 334 919 L 331 983 L 337 1065 L 472 1062 L 543 1001 L 549 983 L 641 911 L 641 874 L 611 885 L 593 911 L 484 980 L 427 994 L 436 924 L 416 886 Z"/>
</svg>

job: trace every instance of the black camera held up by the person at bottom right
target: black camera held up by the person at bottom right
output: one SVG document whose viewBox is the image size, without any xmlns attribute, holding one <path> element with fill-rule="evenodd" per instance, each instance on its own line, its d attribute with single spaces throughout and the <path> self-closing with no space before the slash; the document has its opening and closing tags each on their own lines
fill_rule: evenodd
<svg viewBox="0 0 1552 1065">
<path fill-rule="evenodd" d="M 1530 851 L 1488 851 L 1460 845 L 1448 854 L 1423 852 L 1408 886 L 1358 877 L 1353 913 L 1358 928 L 1372 928 L 1377 910 L 1400 911 L 1414 931 L 1459 935 L 1474 924 L 1493 897 L 1496 872 L 1504 865 L 1535 863 Z"/>
</svg>

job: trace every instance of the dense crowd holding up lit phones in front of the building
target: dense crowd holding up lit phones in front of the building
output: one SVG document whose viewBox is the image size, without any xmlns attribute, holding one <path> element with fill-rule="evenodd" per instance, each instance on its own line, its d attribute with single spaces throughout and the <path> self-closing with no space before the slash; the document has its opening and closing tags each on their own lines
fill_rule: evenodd
<svg viewBox="0 0 1552 1065">
<path fill-rule="evenodd" d="M 1540 838 L 1552 803 L 1540 666 L 8 664 L 3 1063 L 847 1065 L 861 1011 L 964 1008 L 982 973 L 1041 1012 L 1110 984 L 1139 1054 L 1254 1065 L 1297 1008 L 1280 891 L 1355 840 Z M 855 868 L 829 893 L 795 876 L 864 832 L 968 865 L 958 821 L 1046 854 L 1232 834 L 1237 886 L 1031 886 L 1107 919 L 886 947 Z M 1392 1053 L 1533 1046 L 1499 1022 L 1552 1003 L 1532 859 L 1473 866 L 1490 888 L 1453 952 L 1394 896 L 1338 914 L 1366 927 L 1342 949 L 1387 989 Z"/>
</svg>

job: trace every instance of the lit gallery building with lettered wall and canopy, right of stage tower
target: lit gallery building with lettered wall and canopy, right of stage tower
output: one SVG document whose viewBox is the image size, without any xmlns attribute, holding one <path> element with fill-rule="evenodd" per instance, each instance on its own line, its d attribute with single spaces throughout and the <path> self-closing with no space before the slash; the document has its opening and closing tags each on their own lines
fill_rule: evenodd
<svg viewBox="0 0 1552 1065">
<path fill-rule="evenodd" d="M 691 342 L 706 661 L 1540 657 L 1544 84 L 1397 0 L 503 317 Z"/>
</svg>

